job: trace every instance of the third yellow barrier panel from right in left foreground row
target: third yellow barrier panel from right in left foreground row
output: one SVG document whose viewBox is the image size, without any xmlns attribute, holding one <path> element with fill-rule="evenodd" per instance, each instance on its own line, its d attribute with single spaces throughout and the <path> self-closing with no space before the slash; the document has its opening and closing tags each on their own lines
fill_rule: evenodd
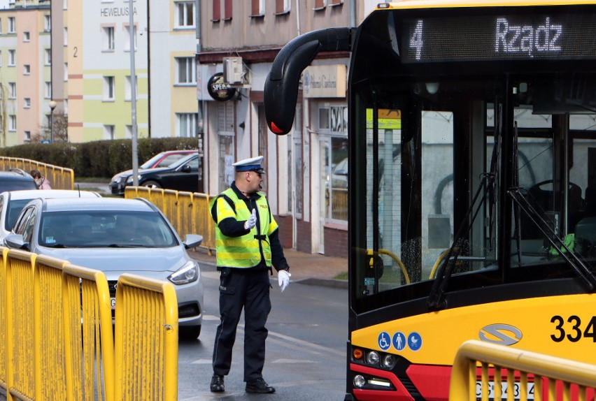
<svg viewBox="0 0 596 401">
<path fill-rule="evenodd" d="M 66 393 L 62 269 L 57 258 L 37 256 L 34 265 L 35 399 L 55 400 Z"/>
</svg>

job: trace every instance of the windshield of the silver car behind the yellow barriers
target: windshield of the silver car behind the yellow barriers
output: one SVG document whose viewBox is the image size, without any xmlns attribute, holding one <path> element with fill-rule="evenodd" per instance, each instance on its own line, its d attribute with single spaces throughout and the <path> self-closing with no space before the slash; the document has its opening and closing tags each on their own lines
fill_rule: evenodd
<svg viewBox="0 0 596 401">
<path fill-rule="evenodd" d="M 75 210 L 43 214 L 39 238 L 43 247 L 174 247 L 168 224 L 155 212 Z"/>
</svg>

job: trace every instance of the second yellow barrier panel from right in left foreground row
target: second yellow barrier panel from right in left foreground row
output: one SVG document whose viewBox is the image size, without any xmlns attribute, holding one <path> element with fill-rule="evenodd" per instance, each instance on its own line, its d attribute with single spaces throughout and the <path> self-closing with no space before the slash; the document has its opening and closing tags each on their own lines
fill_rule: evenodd
<svg viewBox="0 0 596 401">
<path fill-rule="evenodd" d="M 106 275 L 66 265 L 62 278 L 67 399 L 104 400 L 105 391 L 105 400 L 114 400 L 114 341 Z"/>
</svg>

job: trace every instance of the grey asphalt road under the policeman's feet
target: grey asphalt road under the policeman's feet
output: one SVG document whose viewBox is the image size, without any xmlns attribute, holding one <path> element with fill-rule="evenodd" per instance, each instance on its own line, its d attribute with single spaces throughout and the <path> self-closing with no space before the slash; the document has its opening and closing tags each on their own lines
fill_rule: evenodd
<svg viewBox="0 0 596 401">
<path fill-rule="evenodd" d="M 243 383 L 243 324 L 234 345 L 226 392 L 211 393 L 211 356 L 218 316 L 218 272 L 204 271 L 205 317 L 199 340 L 180 341 L 178 400 L 343 400 L 346 380 L 348 293 L 345 289 L 276 282 L 267 328 L 263 376 L 274 395 L 247 394 Z M 241 323 L 243 319 L 241 319 Z"/>
</svg>

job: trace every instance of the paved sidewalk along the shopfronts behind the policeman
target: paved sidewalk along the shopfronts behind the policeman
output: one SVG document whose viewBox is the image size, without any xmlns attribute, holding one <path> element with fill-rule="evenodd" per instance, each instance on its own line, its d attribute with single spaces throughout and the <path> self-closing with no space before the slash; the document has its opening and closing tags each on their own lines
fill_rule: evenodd
<svg viewBox="0 0 596 401">
<path fill-rule="evenodd" d="M 283 253 L 290 265 L 292 282 L 320 286 L 348 288 L 348 281 L 335 279 L 340 273 L 348 272 L 347 258 L 334 258 L 320 254 L 306 254 L 295 249 L 284 249 Z M 202 270 L 215 271 L 215 252 L 209 255 L 206 249 L 197 248 L 188 254 L 199 261 Z"/>
</svg>

